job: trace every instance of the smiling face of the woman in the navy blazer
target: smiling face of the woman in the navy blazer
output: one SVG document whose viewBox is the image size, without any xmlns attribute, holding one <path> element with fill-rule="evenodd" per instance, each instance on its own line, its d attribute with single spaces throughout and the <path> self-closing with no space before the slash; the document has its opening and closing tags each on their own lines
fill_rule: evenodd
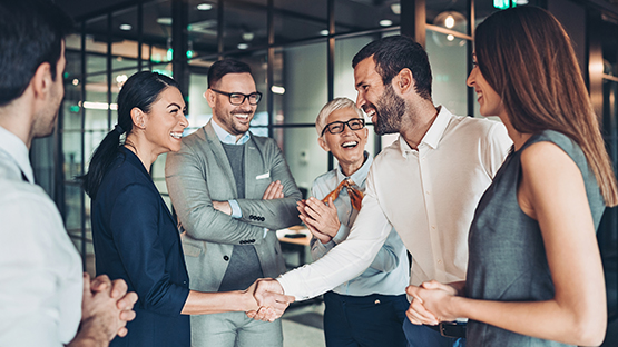
<svg viewBox="0 0 618 347">
<path fill-rule="evenodd" d="M 157 155 L 180 150 L 183 131 L 189 125 L 185 117 L 185 101 L 176 87 L 168 87 L 146 113 L 146 139 L 154 145 Z"/>
</svg>

